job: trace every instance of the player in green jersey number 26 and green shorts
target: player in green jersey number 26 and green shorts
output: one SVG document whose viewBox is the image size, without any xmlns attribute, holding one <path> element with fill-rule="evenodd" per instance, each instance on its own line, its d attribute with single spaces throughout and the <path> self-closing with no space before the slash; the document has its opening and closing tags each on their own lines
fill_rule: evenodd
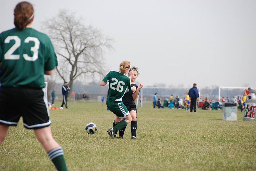
<svg viewBox="0 0 256 171">
<path fill-rule="evenodd" d="M 126 91 L 131 91 L 131 78 L 133 70 L 130 70 L 130 62 L 123 61 L 120 64 L 119 72 L 110 71 L 100 82 L 100 86 L 108 84 L 107 106 L 116 115 L 113 128 L 108 129 L 109 138 L 116 137 L 117 131 L 126 127 L 132 121 L 132 117 L 122 102 Z M 128 77 L 126 74 L 129 72 Z"/>
</svg>

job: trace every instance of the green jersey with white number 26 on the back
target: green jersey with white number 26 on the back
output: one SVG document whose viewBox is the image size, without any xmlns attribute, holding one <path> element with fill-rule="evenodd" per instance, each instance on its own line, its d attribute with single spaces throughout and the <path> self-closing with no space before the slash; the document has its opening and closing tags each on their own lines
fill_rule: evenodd
<svg viewBox="0 0 256 171">
<path fill-rule="evenodd" d="M 108 99 L 121 102 L 127 89 L 131 91 L 130 78 L 117 71 L 110 71 L 102 81 L 108 82 Z"/>
</svg>

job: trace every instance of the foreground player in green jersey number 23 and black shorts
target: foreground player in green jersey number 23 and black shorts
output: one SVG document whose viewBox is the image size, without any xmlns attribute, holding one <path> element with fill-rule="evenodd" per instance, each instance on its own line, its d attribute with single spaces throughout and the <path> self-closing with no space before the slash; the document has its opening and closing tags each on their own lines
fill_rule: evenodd
<svg viewBox="0 0 256 171">
<path fill-rule="evenodd" d="M 33 20 L 32 4 L 20 2 L 14 9 L 15 28 L 0 34 L 0 144 L 22 116 L 57 170 L 67 170 L 63 150 L 52 137 L 44 87 L 44 74 L 53 74 L 57 57 L 50 38 L 31 28 Z"/>
</svg>

